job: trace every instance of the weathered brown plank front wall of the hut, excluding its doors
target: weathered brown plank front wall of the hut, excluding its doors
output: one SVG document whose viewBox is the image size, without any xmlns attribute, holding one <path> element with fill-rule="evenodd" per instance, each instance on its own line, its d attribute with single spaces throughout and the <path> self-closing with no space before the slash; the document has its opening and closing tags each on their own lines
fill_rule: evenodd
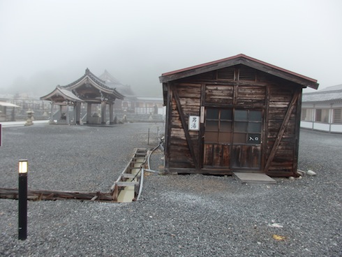
<svg viewBox="0 0 342 257">
<path fill-rule="evenodd" d="M 204 106 L 261 110 L 261 171 L 273 176 L 295 175 L 302 98 L 300 85 L 238 65 L 174 80 L 165 86 L 168 90 L 166 170 L 231 174 L 229 168 L 203 168 L 205 124 L 200 124 L 200 131 L 188 131 L 188 115 L 200 116 L 201 106 Z"/>
</svg>

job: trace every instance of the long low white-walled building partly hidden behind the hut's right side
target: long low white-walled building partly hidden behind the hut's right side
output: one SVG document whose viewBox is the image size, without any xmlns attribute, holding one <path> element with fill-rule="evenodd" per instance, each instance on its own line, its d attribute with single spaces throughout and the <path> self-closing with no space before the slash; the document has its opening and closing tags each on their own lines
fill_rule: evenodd
<svg viewBox="0 0 342 257">
<path fill-rule="evenodd" d="M 304 129 L 342 133 L 342 85 L 304 93 L 300 126 Z"/>
</svg>

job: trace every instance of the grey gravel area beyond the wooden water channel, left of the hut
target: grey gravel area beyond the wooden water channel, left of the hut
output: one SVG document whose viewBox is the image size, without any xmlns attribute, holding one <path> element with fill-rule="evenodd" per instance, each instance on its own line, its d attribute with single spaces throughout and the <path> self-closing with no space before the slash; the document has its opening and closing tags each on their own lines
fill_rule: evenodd
<svg viewBox="0 0 342 257">
<path fill-rule="evenodd" d="M 135 147 L 154 147 L 162 124 L 3 128 L 0 187 L 17 186 L 17 161 L 29 160 L 29 189 L 108 191 Z M 150 145 L 147 145 L 150 129 Z M 134 131 L 134 133 L 132 133 Z"/>
</svg>

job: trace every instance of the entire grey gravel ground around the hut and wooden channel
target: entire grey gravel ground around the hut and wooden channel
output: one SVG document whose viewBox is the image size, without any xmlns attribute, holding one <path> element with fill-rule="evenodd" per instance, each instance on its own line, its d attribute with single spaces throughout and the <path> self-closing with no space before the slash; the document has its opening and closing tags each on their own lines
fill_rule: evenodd
<svg viewBox="0 0 342 257">
<path fill-rule="evenodd" d="M 108 191 L 158 126 L 3 128 L 0 187 L 16 187 L 29 159 L 30 189 Z M 17 200 L 0 199 L 0 256 L 342 256 L 341 146 L 342 135 L 301 131 L 299 168 L 318 175 L 275 185 L 151 174 L 135 203 L 29 201 L 25 241 Z"/>
</svg>

